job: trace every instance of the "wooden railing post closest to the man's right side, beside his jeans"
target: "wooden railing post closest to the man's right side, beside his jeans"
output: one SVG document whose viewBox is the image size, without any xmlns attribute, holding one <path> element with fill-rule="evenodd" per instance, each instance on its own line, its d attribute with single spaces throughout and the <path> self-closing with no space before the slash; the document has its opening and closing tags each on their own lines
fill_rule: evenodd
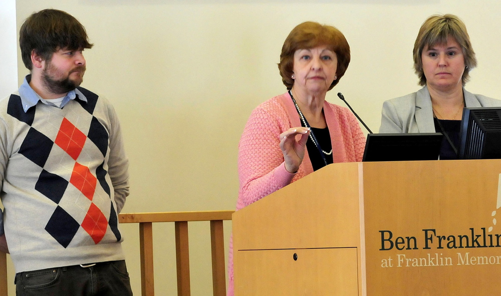
<svg viewBox="0 0 501 296">
<path fill-rule="evenodd" d="M 141 294 L 142 296 L 154 296 L 153 229 L 151 222 L 139 223 L 139 249 L 141 253 Z"/>
</svg>

